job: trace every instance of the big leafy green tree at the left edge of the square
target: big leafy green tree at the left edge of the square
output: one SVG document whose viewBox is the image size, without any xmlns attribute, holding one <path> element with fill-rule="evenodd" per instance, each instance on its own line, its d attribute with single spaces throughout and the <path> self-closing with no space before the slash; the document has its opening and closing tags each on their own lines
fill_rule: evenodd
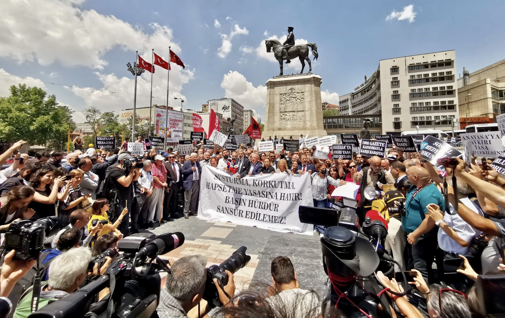
<svg viewBox="0 0 505 318">
<path fill-rule="evenodd" d="M 75 129 L 72 111 L 59 105 L 55 95 L 26 84 L 11 86 L 9 97 L 0 97 L 0 139 L 14 142 L 20 139 L 28 144 L 49 144 L 63 148 L 67 132 Z"/>
</svg>

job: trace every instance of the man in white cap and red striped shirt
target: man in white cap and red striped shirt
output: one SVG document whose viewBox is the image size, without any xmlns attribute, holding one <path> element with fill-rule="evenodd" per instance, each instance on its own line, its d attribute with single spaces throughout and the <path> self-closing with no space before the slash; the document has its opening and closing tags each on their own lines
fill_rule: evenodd
<svg viewBox="0 0 505 318">
<path fill-rule="evenodd" d="M 154 189 L 151 194 L 151 203 L 149 206 L 149 214 L 147 215 L 148 222 L 156 222 L 160 220 L 163 209 L 163 197 L 167 189 L 167 168 L 163 162 L 163 156 L 157 154 L 155 156 L 155 164 L 151 168 L 153 174 Z"/>
</svg>

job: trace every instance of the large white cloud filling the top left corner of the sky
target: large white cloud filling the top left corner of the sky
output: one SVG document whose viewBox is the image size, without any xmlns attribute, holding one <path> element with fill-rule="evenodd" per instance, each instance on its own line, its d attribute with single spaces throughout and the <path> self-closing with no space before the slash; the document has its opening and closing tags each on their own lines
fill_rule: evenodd
<svg viewBox="0 0 505 318">
<path fill-rule="evenodd" d="M 171 41 L 172 29 L 149 24 L 152 33 L 116 18 L 81 10 L 84 0 L 6 0 L 0 10 L 0 57 L 18 63 L 42 66 L 60 62 L 64 66 L 103 69 L 103 56 L 115 47 L 150 52 L 151 47 L 180 47 Z M 30 23 L 26 23 L 30 21 Z M 162 40 L 162 42 L 160 42 Z"/>
</svg>

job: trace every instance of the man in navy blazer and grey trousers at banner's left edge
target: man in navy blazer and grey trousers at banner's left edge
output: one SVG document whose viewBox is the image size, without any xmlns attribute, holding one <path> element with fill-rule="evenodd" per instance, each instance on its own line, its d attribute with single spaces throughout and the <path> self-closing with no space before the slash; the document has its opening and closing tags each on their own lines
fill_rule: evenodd
<svg viewBox="0 0 505 318">
<path fill-rule="evenodd" d="M 197 161 L 198 154 L 191 153 L 191 158 L 182 166 L 182 184 L 184 186 L 184 219 L 189 219 L 189 214 L 197 214 L 196 203 L 200 191 L 201 167 Z"/>
</svg>

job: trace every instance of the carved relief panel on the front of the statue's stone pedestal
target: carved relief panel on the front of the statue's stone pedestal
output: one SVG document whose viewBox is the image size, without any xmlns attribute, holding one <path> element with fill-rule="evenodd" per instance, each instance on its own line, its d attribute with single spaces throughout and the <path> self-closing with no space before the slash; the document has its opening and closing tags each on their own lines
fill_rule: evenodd
<svg viewBox="0 0 505 318">
<path fill-rule="evenodd" d="M 287 93 L 280 94 L 279 103 L 280 124 L 305 123 L 305 92 L 297 92 L 290 88 Z"/>
</svg>

